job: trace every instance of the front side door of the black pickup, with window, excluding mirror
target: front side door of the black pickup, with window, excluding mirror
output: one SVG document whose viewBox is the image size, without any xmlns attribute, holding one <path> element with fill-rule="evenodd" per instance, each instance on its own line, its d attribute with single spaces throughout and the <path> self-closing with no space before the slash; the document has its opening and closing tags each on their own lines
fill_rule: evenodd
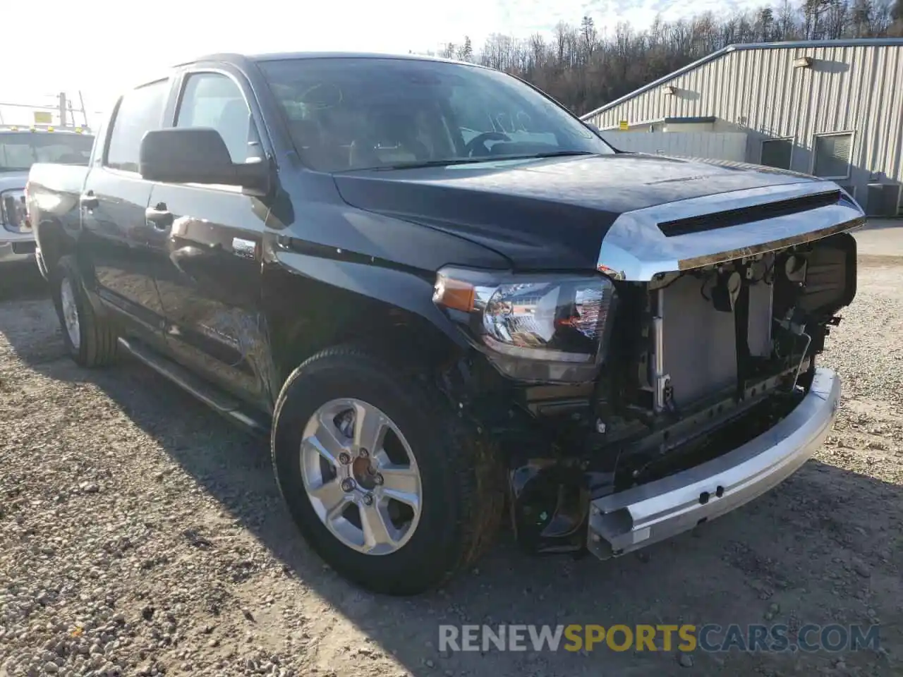
<svg viewBox="0 0 903 677">
<path fill-rule="evenodd" d="M 189 70 L 177 127 L 212 127 L 232 162 L 263 159 L 250 90 L 237 72 Z M 154 276 L 170 351 L 233 394 L 266 405 L 266 353 L 258 315 L 261 240 L 268 208 L 234 186 L 155 183 Z"/>
</svg>

